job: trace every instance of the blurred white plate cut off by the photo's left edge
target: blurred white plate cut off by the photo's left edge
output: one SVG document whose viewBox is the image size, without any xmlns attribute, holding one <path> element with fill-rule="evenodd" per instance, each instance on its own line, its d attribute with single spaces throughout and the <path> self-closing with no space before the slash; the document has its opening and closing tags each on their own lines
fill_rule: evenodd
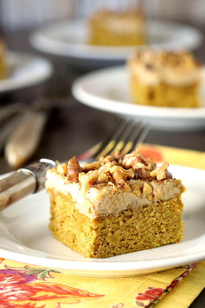
<svg viewBox="0 0 205 308">
<path fill-rule="evenodd" d="M 40 83 L 53 71 L 48 60 L 18 51 L 8 51 L 6 63 L 8 74 L 0 80 L 0 93 Z"/>
</svg>

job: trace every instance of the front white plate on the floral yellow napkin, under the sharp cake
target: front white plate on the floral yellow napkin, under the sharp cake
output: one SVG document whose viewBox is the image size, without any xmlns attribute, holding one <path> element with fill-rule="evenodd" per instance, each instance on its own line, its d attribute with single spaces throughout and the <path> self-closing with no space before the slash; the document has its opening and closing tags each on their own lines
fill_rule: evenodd
<svg viewBox="0 0 205 308">
<path fill-rule="evenodd" d="M 94 277 L 143 275 L 205 259 L 205 171 L 175 165 L 169 171 L 187 188 L 182 198 L 185 230 L 179 244 L 105 259 L 82 257 L 49 233 L 49 198 L 42 191 L 0 212 L 0 256 Z"/>
</svg>

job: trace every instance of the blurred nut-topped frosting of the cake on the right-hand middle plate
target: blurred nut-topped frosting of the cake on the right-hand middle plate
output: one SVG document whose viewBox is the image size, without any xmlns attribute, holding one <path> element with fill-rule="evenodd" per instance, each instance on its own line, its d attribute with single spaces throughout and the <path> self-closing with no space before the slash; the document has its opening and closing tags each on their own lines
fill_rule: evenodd
<svg viewBox="0 0 205 308">
<path fill-rule="evenodd" d="M 129 60 L 130 71 L 141 83 L 190 85 L 201 79 L 201 65 L 188 52 L 141 50 Z"/>
</svg>

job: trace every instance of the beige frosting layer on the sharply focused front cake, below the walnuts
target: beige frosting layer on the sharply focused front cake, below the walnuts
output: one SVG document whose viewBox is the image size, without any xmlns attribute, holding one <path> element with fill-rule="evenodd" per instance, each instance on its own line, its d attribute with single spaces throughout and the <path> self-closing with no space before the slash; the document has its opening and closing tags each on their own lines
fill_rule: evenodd
<svg viewBox="0 0 205 308">
<path fill-rule="evenodd" d="M 56 168 L 47 172 L 46 189 L 52 189 L 55 194 L 70 194 L 76 209 L 85 214 L 91 220 L 96 217 L 116 215 L 122 210 L 132 209 L 140 210 L 142 206 L 155 203 L 156 201 L 165 201 L 171 198 L 177 198 L 185 188 L 180 180 L 129 180 L 127 188 L 121 190 L 118 185 L 111 182 L 96 184 L 89 188 L 85 196 L 81 192 L 81 183 L 69 183 L 67 177 L 57 172 Z M 139 188 L 144 183 L 148 183 L 152 187 L 152 199 L 145 197 L 143 193 L 139 197 L 132 192 L 130 186 L 137 184 Z M 149 201 L 149 200 L 150 201 Z"/>
</svg>

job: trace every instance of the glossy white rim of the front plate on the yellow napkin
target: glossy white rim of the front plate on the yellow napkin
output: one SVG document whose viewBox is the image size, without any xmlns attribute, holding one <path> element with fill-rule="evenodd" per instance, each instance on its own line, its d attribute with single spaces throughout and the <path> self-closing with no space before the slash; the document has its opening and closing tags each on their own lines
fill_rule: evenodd
<svg viewBox="0 0 205 308">
<path fill-rule="evenodd" d="M 170 165 L 170 168 L 175 168 L 175 169 L 181 168 L 181 171 L 183 171 L 183 170 L 186 170 L 188 167 Z M 198 174 L 201 174 L 202 176 L 204 176 L 205 174 L 205 171 L 201 169 L 188 168 L 187 172 L 190 172 L 190 171 L 198 172 Z M 6 175 L 1 175 L 1 177 L 4 177 L 4 176 Z M 9 244 L 11 246 L 18 245 L 18 244 L 15 244 L 14 241 L 10 241 L 5 237 L 1 236 L 1 238 L 3 241 L 6 242 L 6 245 L 9 245 Z M 171 244 L 171 245 L 175 245 L 175 244 Z M 166 259 L 160 258 L 160 259 L 155 259 L 154 261 L 150 261 L 150 260 L 132 261 L 132 259 L 135 259 L 135 257 L 131 259 L 129 258 L 125 261 L 116 260 L 115 258 L 117 256 L 107 258 L 107 261 L 104 261 L 106 259 L 86 259 L 82 257 L 81 255 L 79 255 L 80 257 L 77 258 L 77 259 L 80 259 L 80 261 L 76 261 L 75 258 L 73 257 L 70 257 L 71 260 L 67 260 L 67 259 L 65 260 L 63 259 L 65 257 L 61 256 L 61 258 L 59 259 L 58 255 L 55 256 L 56 258 L 50 258 L 49 253 L 45 253 L 45 252 L 41 253 L 38 250 L 28 248 L 22 245 L 18 245 L 18 246 L 20 247 L 19 251 L 22 251 L 23 249 L 25 250 L 26 248 L 28 249 L 28 252 L 25 254 L 25 253 L 16 252 L 15 249 L 13 249 L 12 251 L 11 248 L 10 250 L 4 249 L 4 248 L 2 249 L 1 244 L 0 244 L 0 256 L 4 258 L 13 259 L 19 262 L 29 263 L 32 265 L 45 266 L 49 268 L 58 269 L 58 270 L 61 270 L 62 272 L 66 272 L 70 274 L 91 276 L 91 277 L 127 277 L 127 276 L 149 274 L 152 272 L 166 270 L 166 269 L 173 268 L 175 266 L 190 264 L 190 263 L 205 259 L 205 248 L 203 248 L 203 250 L 200 252 L 198 251 L 197 256 L 194 252 L 194 253 L 188 253 L 185 256 L 166 258 Z M 147 252 L 149 252 L 149 250 L 147 250 Z M 44 257 L 35 256 L 36 253 L 44 254 Z M 113 261 L 110 261 L 110 260 L 113 260 Z"/>
</svg>

